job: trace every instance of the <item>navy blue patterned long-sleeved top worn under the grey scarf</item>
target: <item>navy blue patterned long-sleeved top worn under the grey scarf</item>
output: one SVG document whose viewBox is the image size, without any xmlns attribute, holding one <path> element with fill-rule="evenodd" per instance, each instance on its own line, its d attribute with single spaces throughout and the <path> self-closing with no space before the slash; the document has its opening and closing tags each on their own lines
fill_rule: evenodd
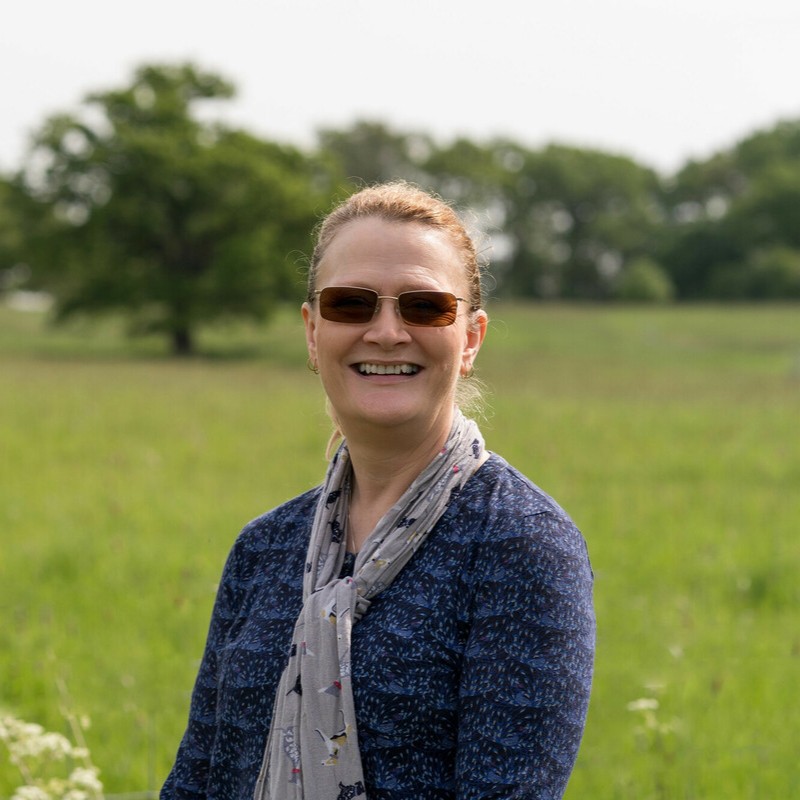
<svg viewBox="0 0 800 800">
<path fill-rule="evenodd" d="M 162 800 L 253 796 L 319 491 L 237 539 Z M 594 643 L 583 537 L 491 455 L 353 628 L 366 796 L 560 798 L 586 719 Z"/>
</svg>

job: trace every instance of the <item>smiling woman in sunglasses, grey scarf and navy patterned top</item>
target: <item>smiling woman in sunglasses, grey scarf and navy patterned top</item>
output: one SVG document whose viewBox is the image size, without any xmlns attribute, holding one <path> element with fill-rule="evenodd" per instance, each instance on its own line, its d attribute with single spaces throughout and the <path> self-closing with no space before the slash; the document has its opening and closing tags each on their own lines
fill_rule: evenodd
<svg viewBox="0 0 800 800">
<path fill-rule="evenodd" d="M 162 798 L 561 797 L 591 570 L 458 408 L 487 327 L 462 223 L 407 184 L 353 195 L 302 314 L 344 442 L 234 545 Z"/>
</svg>

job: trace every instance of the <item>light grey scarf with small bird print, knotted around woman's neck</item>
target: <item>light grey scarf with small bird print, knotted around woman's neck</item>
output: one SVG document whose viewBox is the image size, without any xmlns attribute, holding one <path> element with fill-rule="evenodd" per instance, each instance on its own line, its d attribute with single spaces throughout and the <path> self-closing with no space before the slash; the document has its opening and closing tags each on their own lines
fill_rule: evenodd
<svg viewBox="0 0 800 800">
<path fill-rule="evenodd" d="M 456 409 L 444 447 L 386 512 L 339 578 L 352 465 L 346 443 L 333 457 L 317 504 L 289 663 L 275 698 L 255 800 L 365 797 L 350 675 L 351 629 L 395 579 L 477 470 L 478 426 Z"/>
</svg>

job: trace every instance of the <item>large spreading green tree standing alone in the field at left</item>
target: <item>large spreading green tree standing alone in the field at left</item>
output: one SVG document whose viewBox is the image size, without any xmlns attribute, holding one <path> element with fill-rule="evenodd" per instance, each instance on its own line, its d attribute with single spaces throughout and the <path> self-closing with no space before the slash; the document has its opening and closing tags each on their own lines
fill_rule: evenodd
<svg viewBox="0 0 800 800">
<path fill-rule="evenodd" d="M 24 180 L 43 212 L 34 275 L 59 319 L 119 310 L 189 354 L 201 324 L 261 319 L 297 296 L 291 254 L 307 249 L 326 184 L 297 150 L 197 118 L 232 95 L 192 65 L 149 65 L 46 122 Z"/>
</svg>

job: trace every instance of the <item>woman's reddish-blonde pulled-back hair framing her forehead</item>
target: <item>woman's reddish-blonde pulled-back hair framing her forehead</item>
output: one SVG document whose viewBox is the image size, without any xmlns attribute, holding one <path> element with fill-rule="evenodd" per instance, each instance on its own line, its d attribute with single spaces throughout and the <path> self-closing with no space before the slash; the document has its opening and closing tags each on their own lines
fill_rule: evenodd
<svg viewBox="0 0 800 800">
<path fill-rule="evenodd" d="M 313 301 L 317 272 L 328 246 L 349 222 L 379 217 L 388 222 L 416 222 L 445 233 L 461 256 L 469 286 L 469 307 L 477 311 L 482 303 L 481 270 L 472 238 L 453 208 L 435 195 L 405 181 L 392 181 L 350 195 L 322 220 L 316 230 L 316 244 L 308 271 L 308 299 Z"/>
</svg>

